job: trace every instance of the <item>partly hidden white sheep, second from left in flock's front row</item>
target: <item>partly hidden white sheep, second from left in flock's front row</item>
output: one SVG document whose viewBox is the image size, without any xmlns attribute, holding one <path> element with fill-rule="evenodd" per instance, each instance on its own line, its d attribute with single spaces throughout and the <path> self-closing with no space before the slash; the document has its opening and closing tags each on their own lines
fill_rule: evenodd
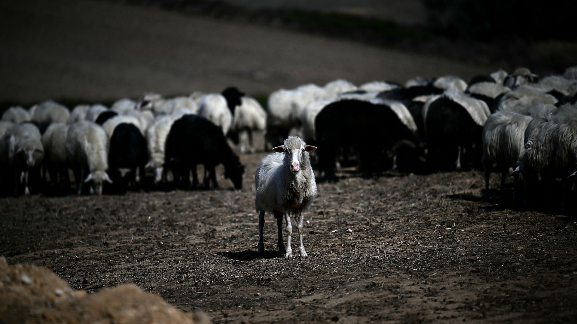
<svg viewBox="0 0 577 324">
<path fill-rule="evenodd" d="M 50 174 L 53 183 L 59 183 L 61 189 L 70 186 L 68 164 L 66 156 L 66 136 L 70 125 L 54 123 L 42 136 L 44 145 L 44 165 Z"/>
</svg>

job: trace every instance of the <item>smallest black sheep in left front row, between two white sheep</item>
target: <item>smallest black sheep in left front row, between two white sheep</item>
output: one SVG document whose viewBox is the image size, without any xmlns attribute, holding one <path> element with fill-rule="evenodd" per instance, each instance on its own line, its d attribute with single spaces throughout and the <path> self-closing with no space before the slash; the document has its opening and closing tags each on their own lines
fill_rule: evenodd
<svg viewBox="0 0 577 324">
<path fill-rule="evenodd" d="M 147 142 L 138 127 L 121 123 L 115 127 L 108 148 L 108 169 L 113 183 L 113 193 L 125 193 L 130 182 L 136 183 L 136 169 L 141 185 L 144 181 L 144 166 L 148 162 Z"/>
</svg>

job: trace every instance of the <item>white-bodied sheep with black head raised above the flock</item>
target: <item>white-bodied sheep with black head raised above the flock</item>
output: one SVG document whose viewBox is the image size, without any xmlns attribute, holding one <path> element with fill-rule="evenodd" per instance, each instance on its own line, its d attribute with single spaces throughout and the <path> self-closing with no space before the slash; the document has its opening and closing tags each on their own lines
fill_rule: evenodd
<svg viewBox="0 0 577 324">
<path fill-rule="evenodd" d="M 235 89 L 224 89 L 222 94 L 209 93 L 203 95 L 199 100 L 198 115 L 220 127 L 224 135 L 230 129 L 233 123 L 233 111 L 236 106 L 241 104 L 241 97 L 244 95 Z"/>
</svg>

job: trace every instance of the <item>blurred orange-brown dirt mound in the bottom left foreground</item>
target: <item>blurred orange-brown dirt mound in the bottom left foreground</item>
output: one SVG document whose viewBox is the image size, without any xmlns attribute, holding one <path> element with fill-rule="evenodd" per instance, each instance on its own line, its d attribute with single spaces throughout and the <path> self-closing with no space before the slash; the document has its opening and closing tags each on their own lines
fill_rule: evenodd
<svg viewBox="0 0 577 324">
<path fill-rule="evenodd" d="M 11 265 L 0 257 L 0 314 L 4 323 L 183 323 L 192 316 L 133 284 L 87 294 L 50 270 Z M 204 315 L 197 322 L 210 322 Z"/>
</svg>

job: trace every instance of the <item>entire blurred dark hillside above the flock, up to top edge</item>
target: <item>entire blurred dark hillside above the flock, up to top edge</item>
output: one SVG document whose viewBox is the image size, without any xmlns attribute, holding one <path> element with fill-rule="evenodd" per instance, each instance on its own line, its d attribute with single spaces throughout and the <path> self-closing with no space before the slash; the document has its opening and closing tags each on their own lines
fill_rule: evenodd
<svg viewBox="0 0 577 324">
<path fill-rule="evenodd" d="M 345 78 L 404 82 L 577 63 L 575 3 L 464 0 L 0 2 L 0 110 L 144 92 L 265 97 Z"/>
</svg>

